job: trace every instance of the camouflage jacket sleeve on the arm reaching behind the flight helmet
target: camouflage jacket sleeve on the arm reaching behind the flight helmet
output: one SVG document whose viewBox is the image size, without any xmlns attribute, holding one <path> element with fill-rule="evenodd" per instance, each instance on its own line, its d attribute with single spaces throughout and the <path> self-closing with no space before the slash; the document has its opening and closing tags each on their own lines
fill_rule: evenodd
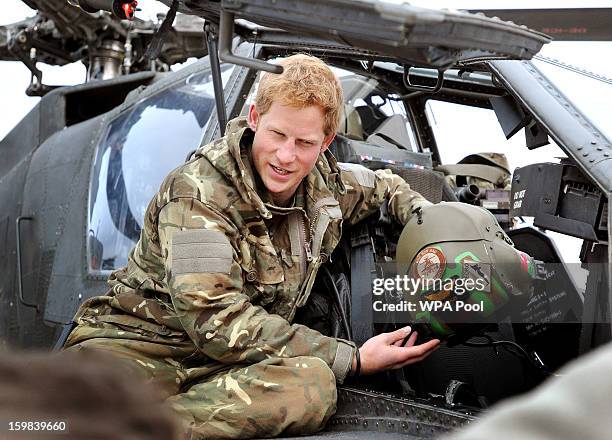
<svg viewBox="0 0 612 440">
<path fill-rule="evenodd" d="M 408 223 L 418 207 L 431 205 L 390 170 L 372 171 L 363 165 L 338 163 L 346 194 L 340 198 L 344 220 L 358 223 L 389 202 L 389 214 L 401 225 Z"/>
</svg>

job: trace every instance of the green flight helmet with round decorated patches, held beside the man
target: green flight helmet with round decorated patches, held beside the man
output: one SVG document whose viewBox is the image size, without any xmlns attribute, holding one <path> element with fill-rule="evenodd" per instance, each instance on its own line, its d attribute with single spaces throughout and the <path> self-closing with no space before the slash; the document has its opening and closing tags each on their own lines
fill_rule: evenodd
<svg viewBox="0 0 612 440">
<path fill-rule="evenodd" d="M 417 210 L 402 231 L 396 258 L 400 274 L 421 280 L 409 299 L 417 305 L 412 322 L 445 339 L 473 335 L 512 304 L 524 303 L 536 270 L 493 214 L 458 202 Z M 443 308 L 424 308 L 428 302 Z"/>
</svg>

